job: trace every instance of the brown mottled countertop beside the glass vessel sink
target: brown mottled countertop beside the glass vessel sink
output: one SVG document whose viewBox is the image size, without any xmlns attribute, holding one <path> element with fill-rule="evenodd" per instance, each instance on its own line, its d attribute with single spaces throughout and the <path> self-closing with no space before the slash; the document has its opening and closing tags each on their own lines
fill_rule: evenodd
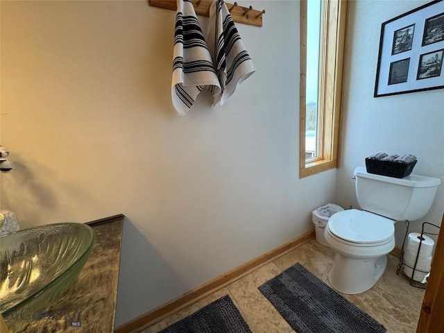
<svg viewBox="0 0 444 333">
<path fill-rule="evenodd" d="M 114 332 L 123 219 L 116 215 L 85 223 L 96 240 L 83 271 L 43 318 L 29 318 L 22 332 Z"/>
</svg>

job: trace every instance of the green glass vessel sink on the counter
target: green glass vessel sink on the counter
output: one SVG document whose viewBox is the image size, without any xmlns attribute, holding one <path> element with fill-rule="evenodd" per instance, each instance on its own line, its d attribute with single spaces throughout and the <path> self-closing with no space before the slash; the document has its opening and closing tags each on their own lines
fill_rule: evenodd
<svg viewBox="0 0 444 333">
<path fill-rule="evenodd" d="M 94 230 L 56 223 L 0 237 L 0 313 L 23 330 L 71 287 L 94 245 Z"/>
</svg>

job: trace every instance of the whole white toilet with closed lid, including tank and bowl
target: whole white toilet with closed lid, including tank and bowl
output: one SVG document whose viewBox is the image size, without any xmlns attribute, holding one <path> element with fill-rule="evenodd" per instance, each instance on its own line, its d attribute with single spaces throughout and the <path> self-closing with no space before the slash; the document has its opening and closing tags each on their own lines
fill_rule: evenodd
<svg viewBox="0 0 444 333">
<path fill-rule="evenodd" d="M 438 178 L 410 175 L 393 178 L 353 172 L 361 210 L 344 210 L 330 217 L 325 241 L 336 253 L 328 273 L 332 287 L 341 293 L 363 293 L 382 277 L 387 257 L 395 248 L 395 222 L 421 219 L 432 206 Z"/>
</svg>

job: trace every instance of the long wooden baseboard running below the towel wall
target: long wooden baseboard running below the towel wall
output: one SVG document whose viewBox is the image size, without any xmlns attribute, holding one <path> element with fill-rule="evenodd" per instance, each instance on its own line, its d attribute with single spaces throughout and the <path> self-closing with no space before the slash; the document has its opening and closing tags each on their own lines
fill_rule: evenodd
<svg viewBox="0 0 444 333">
<path fill-rule="evenodd" d="M 163 305 L 160 305 L 160 307 L 156 307 L 155 309 L 148 311 L 146 314 L 142 314 L 142 316 L 139 316 L 133 319 L 132 321 L 129 321 L 128 323 L 120 325 L 119 327 L 116 328 L 114 332 L 115 333 L 139 332 L 139 330 L 142 330 L 144 327 L 151 326 L 157 323 L 157 321 L 161 321 L 163 318 L 169 316 L 170 314 L 173 314 L 174 312 L 179 311 L 180 309 L 183 309 L 193 304 L 194 302 L 197 302 L 198 300 L 204 298 L 210 293 L 213 293 L 214 291 L 227 286 L 228 284 L 234 282 L 235 280 L 242 278 L 248 273 L 259 268 L 260 266 L 268 264 L 268 262 L 271 262 L 277 257 L 284 255 L 290 250 L 293 250 L 293 248 L 296 248 L 297 246 L 301 246 L 302 244 L 307 243 L 307 241 L 309 241 L 310 239 L 314 239 L 315 236 L 316 234 L 314 230 L 302 234 L 302 236 L 293 239 L 292 241 L 289 241 L 288 243 L 283 244 L 278 248 L 268 251 L 264 255 L 261 255 L 260 257 L 257 257 L 251 260 L 250 262 L 247 262 L 246 264 L 234 268 L 231 271 L 228 271 L 227 273 L 219 275 L 217 278 L 214 278 L 213 280 L 210 280 L 209 282 L 206 282 L 205 284 L 202 284 L 199 287 L 187 293 L 184 293 L 183 295 L 178 296 L 177 298 L 174 298 L 173 300 L 164 303 Z"/>
</svg>

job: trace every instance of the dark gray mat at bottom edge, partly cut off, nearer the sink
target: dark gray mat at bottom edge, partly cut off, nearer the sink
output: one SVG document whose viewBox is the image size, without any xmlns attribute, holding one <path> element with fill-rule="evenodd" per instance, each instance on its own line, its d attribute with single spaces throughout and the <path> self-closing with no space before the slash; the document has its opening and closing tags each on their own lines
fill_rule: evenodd
<svg viewBox="0 0 444 333">
<path fill-rule="evenodd" d="M 173 323 L 160 333 L 251 333 L 230 296 L 226 295 Z"/>
</svg>

